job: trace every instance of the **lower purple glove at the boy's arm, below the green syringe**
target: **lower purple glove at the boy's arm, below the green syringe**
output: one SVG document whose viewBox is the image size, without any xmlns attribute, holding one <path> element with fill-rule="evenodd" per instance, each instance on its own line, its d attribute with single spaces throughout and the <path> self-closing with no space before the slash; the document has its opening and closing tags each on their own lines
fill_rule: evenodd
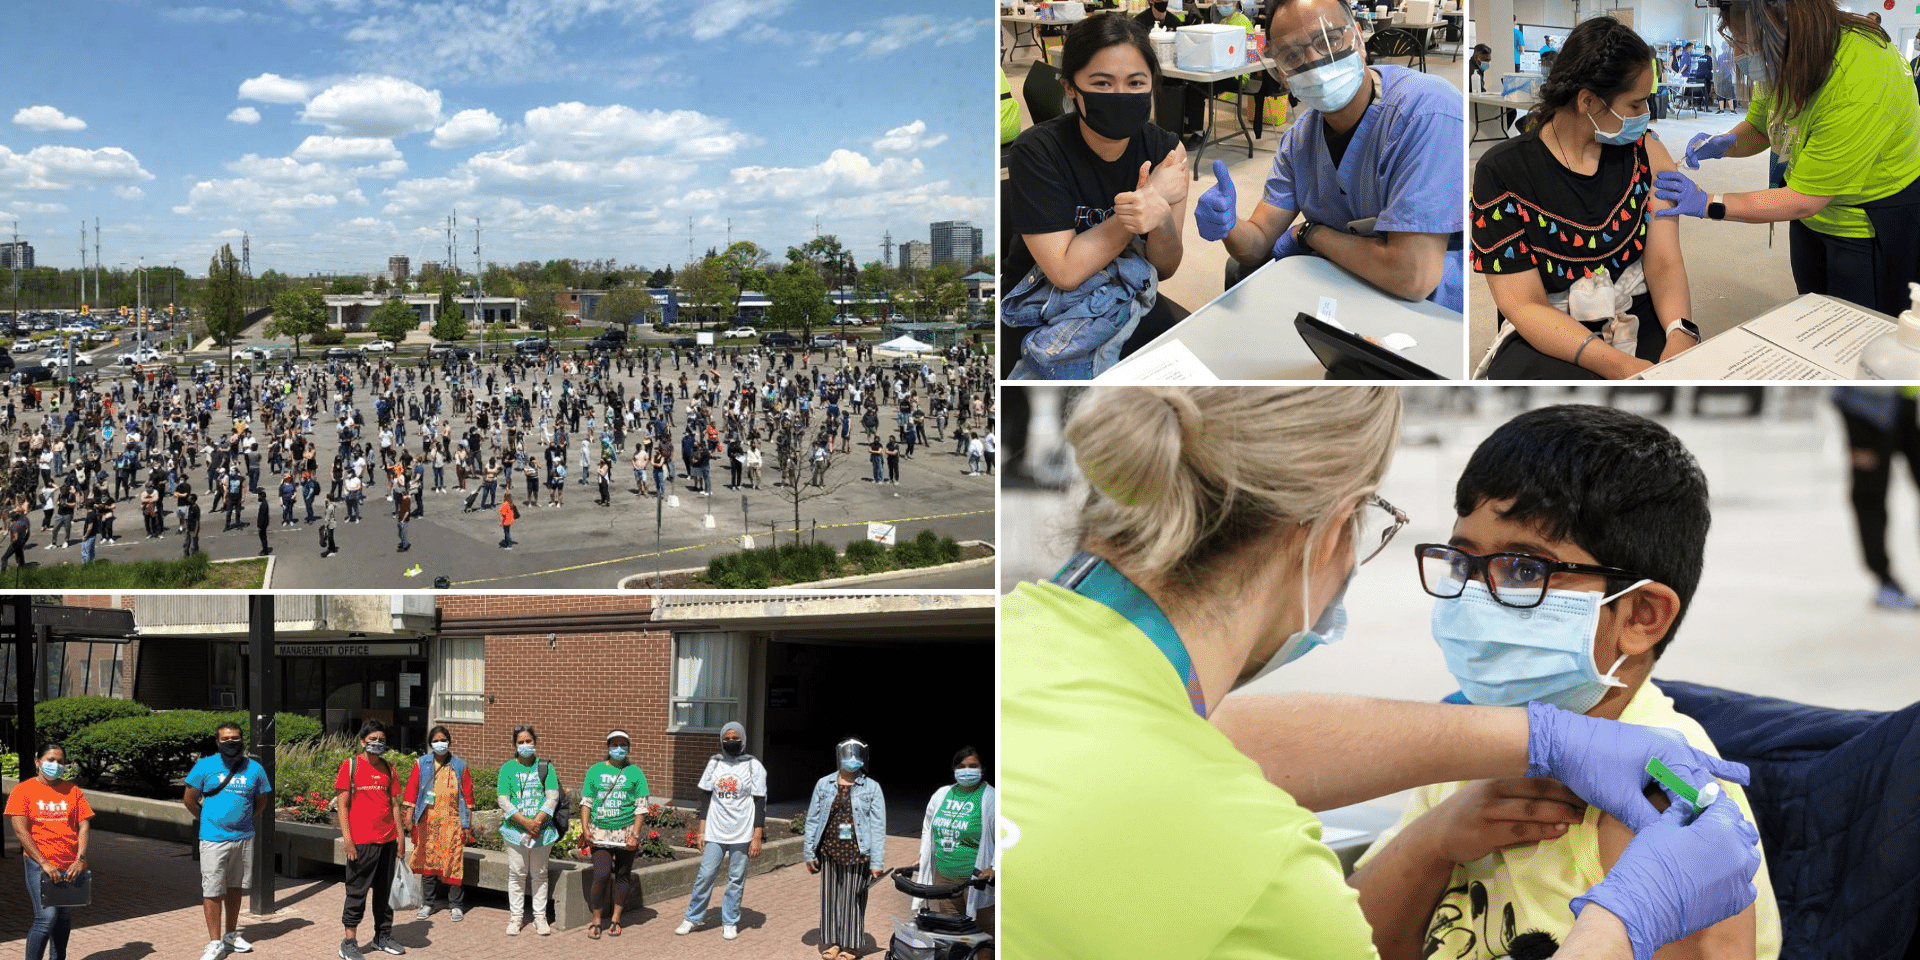
<svg viewBox="0 0 1920 960">
<path fill-rule="evenodd" d="M 1586 904 L 1620 918 L 1634 960 L 1707 929 L 1753 902 L 1759 891 L 1761 841 L 1740 804 L 1720 799 L 1692 824 L 1690 806 L 1676 803 L 1638 829 L 1607 872 L 1607 879 L 1574 897 L 1574 916 Z"/>
</svg>

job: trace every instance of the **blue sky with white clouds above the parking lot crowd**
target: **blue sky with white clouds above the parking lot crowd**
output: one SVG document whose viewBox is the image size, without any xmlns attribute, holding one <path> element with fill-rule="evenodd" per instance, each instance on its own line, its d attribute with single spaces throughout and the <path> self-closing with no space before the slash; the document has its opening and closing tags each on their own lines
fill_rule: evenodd
<svg viewBox="0 0 1920 960">
<path fill-rule="evenodd" d="M 0 234 L 79 265 L 378 273 L 993 223 L 991 4 L 36 0 L 0 13 Z M 991 230 L 989 230 L 991 232 Z M 4 238 L 4 236 L 0 236 Z M 92 240 L 88 240 L 88 246 Z M 88 250 L 88 257 L 92 252 Z"/>
</svg>

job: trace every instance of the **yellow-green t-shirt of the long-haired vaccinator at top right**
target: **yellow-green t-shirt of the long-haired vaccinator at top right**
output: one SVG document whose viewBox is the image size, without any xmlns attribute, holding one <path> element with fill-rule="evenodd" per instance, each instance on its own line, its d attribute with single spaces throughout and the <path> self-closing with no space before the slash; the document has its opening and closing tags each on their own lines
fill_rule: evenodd
<svg viewBox="0 0 1920 960">
<path fill-rule="evenodd" d="M 1788 167 L 1788 186 L 1834 198 L 1807 217 L 1828 236 L 1874 236 L 1860 204 L 1897 194 L 1920 177 L 1920 98 L 1899 50 L 1862 31 L 1839 35 L 1826 86 L 1797 117 L 1774 115 L 1774 92 L 1747 106 Z"/>
</svg>

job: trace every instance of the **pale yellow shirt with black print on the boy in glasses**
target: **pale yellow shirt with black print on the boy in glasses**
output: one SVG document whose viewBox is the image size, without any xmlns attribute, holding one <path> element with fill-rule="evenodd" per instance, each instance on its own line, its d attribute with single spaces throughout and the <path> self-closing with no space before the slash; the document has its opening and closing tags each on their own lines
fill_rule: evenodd
<svg viewBox="0 0 1920 960">
<path fill-rule="evenodd" d="M 1651 682 L 1642 684 L 1626 701 L 1620 722 L 1672 730 L 1695 749 L 1718 756 L 1707 732 L 1693 718 L 1674 710 L 1674 701 Z M 1463 785 L 1463 781 L 1432 783 L 1413 791 L 1400 822 L 1367 849 L 1359 864 L 1371 860 L 1413 818 L 1432 810 Z M 1720 789 L 1740 803 L 1740 810 L 1749 820 L 1753 818 L 1747 791 L 1724 780 Z M 1565 941 L 1567 931 L 1572 929 L 1572 908 L 1567 902 L 1607 877 L 1599 866 L 1599 816 L 1597 806 L 1588 806 L 1586 820 L 1561 837 L 1530 847 L 1494 851 L 1471 864 L 1453 866 L 1446 895 L 1440 897 L 1427 925 L 1427 943 L 1436 947 L 1428 956 L 1494 960 L 1507 956 L 1507 941 L 1536 929 Z M 1753 956 L 1755 960 L 1776 960 L 1780 956 L 1780 904 L 1774 900 L 1774 885 L 1766 876 L 1764 862 L 1761 862 L 1761 874 L 1753 877 L 1753 885 L 1761 891 L 1753 912 Z"/>
</svg>

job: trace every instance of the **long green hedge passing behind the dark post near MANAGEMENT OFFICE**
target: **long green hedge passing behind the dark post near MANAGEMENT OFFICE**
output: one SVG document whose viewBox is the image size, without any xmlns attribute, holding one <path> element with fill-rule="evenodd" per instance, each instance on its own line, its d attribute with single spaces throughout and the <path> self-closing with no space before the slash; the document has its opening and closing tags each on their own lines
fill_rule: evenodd
<svg viewBox="0 0 1920 960">
<path fill-rule="evenodd" d="M 79 766 L 86 783 L 115 780 L 148 795 L 165 795 L 173 781 L 186 776 L 202 758 L 213 753 L 213 732 L 232 720 L 250 732 L 250 718 L 240 710 L 167 710 L 148 716 L 106 720 L 79 732 L 67 743 L 67 758 Z M 321 722 L 300 714 L 275 714 L 278 743 L 305 743 L 321 735 Z"/>
</svg>

